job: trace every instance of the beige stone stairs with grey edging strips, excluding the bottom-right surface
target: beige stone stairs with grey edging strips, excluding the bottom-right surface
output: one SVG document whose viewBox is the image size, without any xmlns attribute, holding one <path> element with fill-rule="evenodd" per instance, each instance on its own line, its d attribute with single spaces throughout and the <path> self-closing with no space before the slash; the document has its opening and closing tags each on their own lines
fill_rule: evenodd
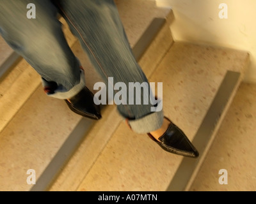
<svg viewBox="0 0 256 204">
<path fill-rule="evenodd" d="M 163 82 L 164 115 L 193 141 L 200 157 L 164 152 L 147 135 L 133 133 L 114 105 L 102 107 L 96 122 L 70 112 L 65 102 L 45 96 L 35 70 L 0 39 L 0 191 L 189 191 L 249 55 L 174 41 L 173 12 L 154 1 L 116 5 L 141 68 L 150 82 Z M 102 80 L 60 20 L 93 90 Z M 29 169 L 36 172 L 35 185 L 26 182 Z"/>
</svg>

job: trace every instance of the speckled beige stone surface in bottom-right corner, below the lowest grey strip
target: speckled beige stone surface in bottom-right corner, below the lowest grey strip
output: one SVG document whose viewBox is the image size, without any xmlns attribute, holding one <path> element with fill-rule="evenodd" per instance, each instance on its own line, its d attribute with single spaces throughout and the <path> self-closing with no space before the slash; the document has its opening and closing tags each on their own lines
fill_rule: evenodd
<svg viewBox="0 0 256 204">
<path fill-rule="evenodd" d="M 256 191 L 256 85 L 241 84 L 189 191 Z M 220 184 L 221 169 L 228 184 Z"/>
</svg>

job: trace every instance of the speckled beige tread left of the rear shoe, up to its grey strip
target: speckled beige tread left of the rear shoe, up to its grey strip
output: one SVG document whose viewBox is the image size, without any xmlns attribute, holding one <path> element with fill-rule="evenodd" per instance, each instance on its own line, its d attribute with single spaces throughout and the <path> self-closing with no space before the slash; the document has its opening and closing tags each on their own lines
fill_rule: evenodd
<svg viewBox="0 0 256 204">
<path fill-rule="evenodd" d="M 79 119 L 38 87 L 1 132 L 0 191 L 29 191 L 27 170 L 38 178 Z"/>
</svg>

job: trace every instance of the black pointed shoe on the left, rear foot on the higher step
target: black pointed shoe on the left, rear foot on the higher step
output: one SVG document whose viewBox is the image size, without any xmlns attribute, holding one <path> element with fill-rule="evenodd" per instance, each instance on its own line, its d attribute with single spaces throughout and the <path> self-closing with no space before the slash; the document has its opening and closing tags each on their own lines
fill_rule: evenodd
<svg viewBox="0 0 256 204">
<path fill-rule="evenodd" d="M 88 117 L 90 119 L 99 120 L 100 106 L 95 105 L 93 101 L 93 93 L 84 87 L 76 96 L 70 99 L 65 99 L 68 107 L 75 113 L 82 115 L 83 117 Z"/>
</svg>

